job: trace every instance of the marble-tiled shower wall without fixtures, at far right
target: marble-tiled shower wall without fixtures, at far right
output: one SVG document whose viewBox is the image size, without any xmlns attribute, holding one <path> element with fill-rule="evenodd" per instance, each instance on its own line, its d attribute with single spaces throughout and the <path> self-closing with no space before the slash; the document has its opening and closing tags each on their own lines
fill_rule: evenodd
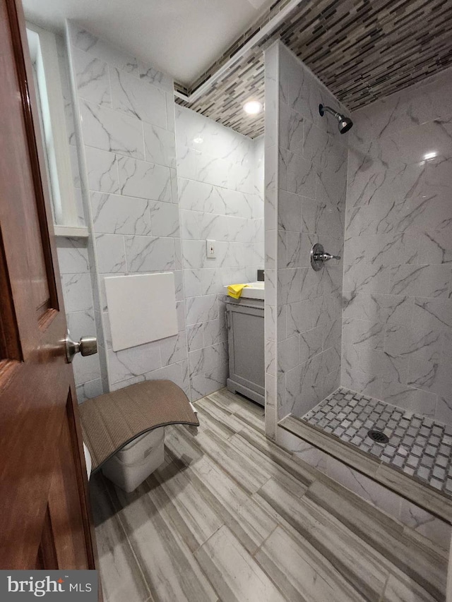
<svg viewBox="0 0 452 602">
<path fill-rule="evenodd" d="M 342 382 L 452 423 L 452 71 L 353 114 Z"/>
</svg>

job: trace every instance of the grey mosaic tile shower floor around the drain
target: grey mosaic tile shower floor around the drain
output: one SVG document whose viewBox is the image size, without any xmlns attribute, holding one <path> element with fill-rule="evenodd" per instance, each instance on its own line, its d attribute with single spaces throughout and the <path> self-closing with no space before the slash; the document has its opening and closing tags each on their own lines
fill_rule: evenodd
<svg viewBox="0 0 452 602">
<path fill-rule="evenodd" d="M 302 420 L 452 495 L 452 426 L 342 387 Z M 376 443 L 370 430 L 389 442 Z"/>
</svg>

